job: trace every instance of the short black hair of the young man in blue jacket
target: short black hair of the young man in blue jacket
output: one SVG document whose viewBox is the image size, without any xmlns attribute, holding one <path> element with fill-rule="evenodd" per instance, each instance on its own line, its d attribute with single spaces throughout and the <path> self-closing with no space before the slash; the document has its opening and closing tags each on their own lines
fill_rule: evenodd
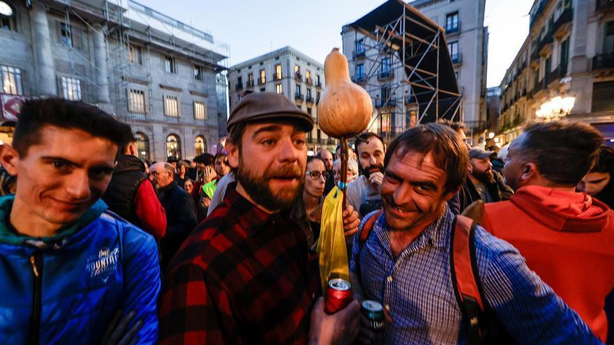
<svg viewBox="0 0 614 345">
<path fill-rule="evenodd" d="M 117 153 L 127 139 L 133 137 L 130 126 L 117 121 L 102 109 L 84 102 L 61 98 L 26 100 L 15 126 L 13 147 L 24 157 L 30 146 L 40 142 L 40 130 L 46 125 L 78 129 L 117 145 Z"/>
</svg>

